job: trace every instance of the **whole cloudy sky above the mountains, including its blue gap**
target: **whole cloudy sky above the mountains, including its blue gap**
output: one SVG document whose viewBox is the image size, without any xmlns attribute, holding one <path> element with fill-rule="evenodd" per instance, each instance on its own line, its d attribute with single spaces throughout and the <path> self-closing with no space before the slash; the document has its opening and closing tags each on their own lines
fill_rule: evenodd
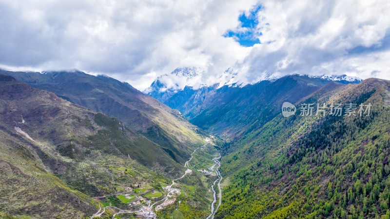
<svg viewBox="0 0 390 219">
<path fill-rule="evenodd" d="M 177 67 L 390 79 L 389 0 L 0 0 L 0 68 L 106 74 L 144 89 Z"/>
</svg>

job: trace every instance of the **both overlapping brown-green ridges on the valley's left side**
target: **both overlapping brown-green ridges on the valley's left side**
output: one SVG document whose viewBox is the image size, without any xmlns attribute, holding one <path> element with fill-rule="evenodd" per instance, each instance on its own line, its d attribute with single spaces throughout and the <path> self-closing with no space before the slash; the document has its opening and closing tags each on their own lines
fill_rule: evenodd
<svg viewBox="0 0 390 219">
<path fill-rule="evenodd" d="M 115 194 L 132 194 L 135 185 L 162 192 L 207 137 L 177 111 L 112 78 L 1 73 L 0 218 L 89 218 L 103 204 L 127 207 Z M 204 186 L 192 185 L 192 196 Z M 188 200 L 198 202 L 207 208 L 203 197 Z"/>
</svg>

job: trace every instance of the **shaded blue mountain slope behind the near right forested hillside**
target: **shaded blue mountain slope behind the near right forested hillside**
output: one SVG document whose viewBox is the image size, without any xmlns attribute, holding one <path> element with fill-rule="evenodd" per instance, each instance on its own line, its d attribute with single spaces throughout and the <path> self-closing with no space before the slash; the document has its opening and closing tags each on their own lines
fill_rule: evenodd
<svg viewBox="0 0 390 219">
<path fill-rule="evenodd" d="M 162 99 L 162 102 L 212 134 L 225 139 L 239 139 L 273 119 L 284 101 L 294 103 L 330 82 L 329 78 L 290 75 L 243 87 L 236 84 L 218 89 L 216 86 L 196 90 L 186 87 L 172 97 Z M 338 82 L 350 83 L 346 80 Z M 160 97 L 156 92 L 151 95 Z"/>
</svg>

